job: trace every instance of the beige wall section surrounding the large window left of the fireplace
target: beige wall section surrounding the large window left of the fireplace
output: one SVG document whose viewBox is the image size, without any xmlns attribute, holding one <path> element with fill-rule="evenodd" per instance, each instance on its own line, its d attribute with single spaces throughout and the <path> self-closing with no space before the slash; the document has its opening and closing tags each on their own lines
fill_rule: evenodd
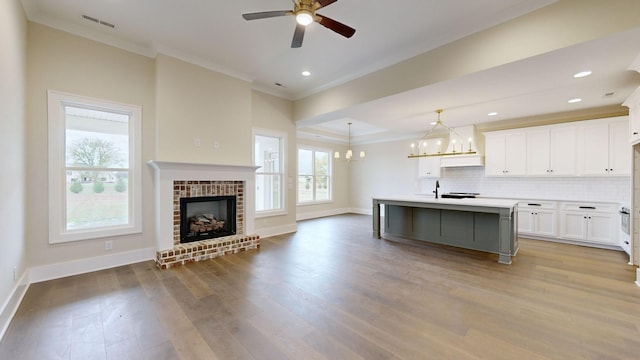
<svg viewBox="0 0 640 360">
<path fill-rule="evenodd" d="M 29 266 L 60 263 L 153 246 L 153 181 L 143 165 L 143 232 L 50 245 L 47 199 L 47 90 L 142 106 L 142 158 L 154 158 L 154 61 L 42 25 L 29 23 L 27 77 L 27 225 Z"/>
</svg>

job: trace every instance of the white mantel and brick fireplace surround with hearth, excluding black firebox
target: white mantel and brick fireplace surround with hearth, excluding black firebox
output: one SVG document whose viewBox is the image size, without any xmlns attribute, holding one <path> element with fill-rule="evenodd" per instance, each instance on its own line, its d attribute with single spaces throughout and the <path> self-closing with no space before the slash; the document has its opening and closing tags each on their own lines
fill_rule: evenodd
<svg viewBox="0 0 640 360">
<path fill-rule="evenodd" d="M 156 265 L 161 269 L 260 247 L 253 234 L 255 166 L 149 161 L 155 170 Z M 180 198 L 236 196 L 236 235 L 180 243 Z"/>
</svg>

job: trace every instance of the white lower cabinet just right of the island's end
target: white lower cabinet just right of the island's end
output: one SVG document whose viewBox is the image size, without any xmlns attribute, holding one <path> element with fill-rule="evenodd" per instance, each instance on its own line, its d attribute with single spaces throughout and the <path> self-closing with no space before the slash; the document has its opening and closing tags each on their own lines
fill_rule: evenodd
<svg viewBox="0 0 640 360">
<path fill-rule="evenodd" d="M 518 203 L 518 233 L 543 237 L 558 235 L 557 204 L 551 201 L 521 201 Z"/>
</svg>

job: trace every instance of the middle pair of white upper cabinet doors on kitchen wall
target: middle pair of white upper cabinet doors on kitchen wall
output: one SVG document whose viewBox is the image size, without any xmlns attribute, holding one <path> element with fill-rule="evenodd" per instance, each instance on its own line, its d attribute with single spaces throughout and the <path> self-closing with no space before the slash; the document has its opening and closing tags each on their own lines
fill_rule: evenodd
<svg viewBox="0 0 640 360">
<path fill-rule="evenodd" d="M 527 131 L 527 174 L 576 175 L 576 134 L 575 126 Z"/>
</svg>

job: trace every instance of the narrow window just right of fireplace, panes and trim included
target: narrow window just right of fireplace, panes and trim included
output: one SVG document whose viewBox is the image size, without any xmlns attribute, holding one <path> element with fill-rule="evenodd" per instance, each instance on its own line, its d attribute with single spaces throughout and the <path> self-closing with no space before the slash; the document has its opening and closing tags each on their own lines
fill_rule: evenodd
<svg viewBox="0 0 640 360">
<path fill-rule="evenodd" d="M 256 170 L 256 216 L 286 213 L 284 149 L 286 134 L 254 130 L 253 163 Z"/>
</svg>

